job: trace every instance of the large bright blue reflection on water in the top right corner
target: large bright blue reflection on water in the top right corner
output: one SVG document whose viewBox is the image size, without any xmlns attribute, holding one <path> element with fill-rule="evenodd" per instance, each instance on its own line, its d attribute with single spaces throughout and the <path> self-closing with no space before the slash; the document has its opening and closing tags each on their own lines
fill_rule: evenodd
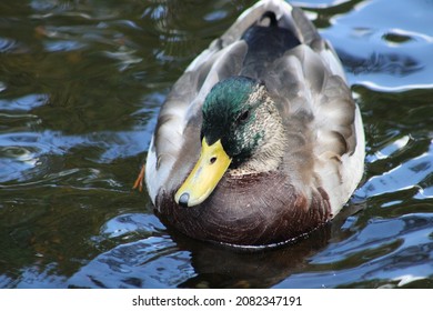
<svg viewBox="0 0 433 311">
<path fill-rule="evenodd" d="M 387 4 L 384 0 L 362 2 L 333 18 L 322 34 L 339 51 L 352 84 L 382 91 L 432 88 L 432 2 L 413 1 L 410 9 L 405 1 Z M 373 19 L 374 23 L 367 23 Z M 407 40 L 390 42 L 390 34 Z"/>
</svg>

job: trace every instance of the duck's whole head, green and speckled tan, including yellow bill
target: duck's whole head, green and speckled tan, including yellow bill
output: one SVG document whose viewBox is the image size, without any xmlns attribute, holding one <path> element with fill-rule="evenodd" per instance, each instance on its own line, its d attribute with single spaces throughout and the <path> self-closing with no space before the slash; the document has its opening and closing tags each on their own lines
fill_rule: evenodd
<svg viewBox="0 0 433 311">
<path fill-rule="evenodd" d="M 278 165 L 274 146 L 282 122 L 263 83 L 246 77 L 220 81 L 208 94 L 202 114 L 200 158 L 174 197 L 183 207 L 207 200 L 228 169 L 262 172 Z"/>
</svg>

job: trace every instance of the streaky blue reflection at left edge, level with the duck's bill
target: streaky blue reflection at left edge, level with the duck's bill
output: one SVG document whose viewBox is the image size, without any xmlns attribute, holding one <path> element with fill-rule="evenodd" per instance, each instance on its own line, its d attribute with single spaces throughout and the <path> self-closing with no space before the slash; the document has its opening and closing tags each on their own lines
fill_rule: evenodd
<svg viewBox="0 0 433 311">
<path fill-rule="evenodd" d="M 139 131 L 101 131 L 87 136 L 66 136 L 59 131 L 16 132 L 0 136 L 0 182 L 26 180 L 26 171 L 50 163 L 43 157 L 63 156 L 75 147 L 92 147 L 103 150 L 92 161 L 109 163 L 145 151 L 149 142 Z M 42 165 L 42 167 L 40 167 Z M 33 172 L 33 177 L 34 177 Z"/>
</svg>

